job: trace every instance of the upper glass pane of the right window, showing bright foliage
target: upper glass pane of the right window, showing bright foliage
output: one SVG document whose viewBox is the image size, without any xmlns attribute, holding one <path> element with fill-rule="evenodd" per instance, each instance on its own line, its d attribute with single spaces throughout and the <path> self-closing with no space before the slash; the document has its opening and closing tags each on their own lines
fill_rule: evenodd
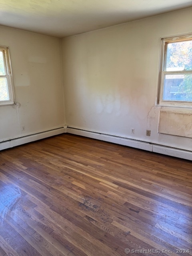
<svg viewBox="0 0 192 256">
<path fill-rule="evenodd" d="M 167 44 L 165 70 L 192 70 L 192 40 Z"/>
</svg>

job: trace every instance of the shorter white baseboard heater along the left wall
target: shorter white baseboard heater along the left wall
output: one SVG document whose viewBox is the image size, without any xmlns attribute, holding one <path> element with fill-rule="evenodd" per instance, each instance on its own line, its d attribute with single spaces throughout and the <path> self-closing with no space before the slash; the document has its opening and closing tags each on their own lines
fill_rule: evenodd
<svg viewBox="0 0 192 256">
<path fill-rule="evenodd" d="M 35 134 L 29 134 L 26 136 L 22 136 L 19 138 L 12 138 L 10 140 L 0 142 L 0 150 L 4 150 L 7 148 L 13 148 L 15 146 L 19 146 L 22 144 L 26 144 L 32 141 L 41 140 L 44 138 L 48 138 L 54 135 L 62 134 L 66 132 L 66 127 L 59 127 L 52 130 L 46 130 L 43 132 L 37 132 Z"/>
</svg>

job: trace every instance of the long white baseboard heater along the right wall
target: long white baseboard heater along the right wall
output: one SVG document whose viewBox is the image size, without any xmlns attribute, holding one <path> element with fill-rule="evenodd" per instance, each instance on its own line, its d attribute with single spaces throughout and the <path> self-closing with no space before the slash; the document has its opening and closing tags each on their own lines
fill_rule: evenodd
<svg viewBox="0 0 192 256">
<path fill-rule="evenodd" d="M 123 137 L 109 135 L 109 134 L 92 132 L 92 131 L 88 131 L 88 130 L 81 130 L 81 129 L 73 128 L 73 127 L 67 127 L 67 133 L 76 134 L 76 135 L 80 135 L 80 136 L 84 136 L 84 137 L 88 137 L 88 138 L 94 138 L 97 140 L 112 142 L 115 144 L 129 146 L 132 148 L 147 150 L 150 152 L 164 154 L 167 156 L 174 156 L 174 157 L 178 157 L 178 158 L 192 160 L 192 151 L 189 151 L 189 150 L 172 148 L 169 146 L 154 144 L 151 142 L 128 139 L 128 138 L 123 138 Z"/>
</svg>

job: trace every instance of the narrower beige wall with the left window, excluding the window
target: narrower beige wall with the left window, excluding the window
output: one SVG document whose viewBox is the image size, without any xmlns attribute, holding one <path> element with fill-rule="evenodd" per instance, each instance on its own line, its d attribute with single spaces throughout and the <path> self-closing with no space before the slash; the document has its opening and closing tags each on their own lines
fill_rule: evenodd
<svg viewBox="0 0 192 256">
<path fill-rule="evenodd" d="M 63 126 L 60 39 L 0 26 L 0 45 L 10 48 L 18 102 L 0 106 L 0 141 Z"/>
</svg>

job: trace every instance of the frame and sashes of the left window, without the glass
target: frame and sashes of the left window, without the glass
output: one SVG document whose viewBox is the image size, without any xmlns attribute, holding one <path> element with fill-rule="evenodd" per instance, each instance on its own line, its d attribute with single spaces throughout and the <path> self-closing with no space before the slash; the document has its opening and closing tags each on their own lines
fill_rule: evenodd
<svg viewBox="0 0 192 256">
<path fill-rule="evenodd" d="M 9 48 L 7 46 L 0 46 L 0 51 L 3 52 L 4 66 L 5 66 L 5 70 L 6 70 L 6 75 L 0 75 L 0 77 L 7 78 L 8 94 L 9 94 L 9 100 L 0 100 L 0 106 L 14 105 L 15 97 L 14 97 L 14 88 L 13 88 Z"/>
</svg>

